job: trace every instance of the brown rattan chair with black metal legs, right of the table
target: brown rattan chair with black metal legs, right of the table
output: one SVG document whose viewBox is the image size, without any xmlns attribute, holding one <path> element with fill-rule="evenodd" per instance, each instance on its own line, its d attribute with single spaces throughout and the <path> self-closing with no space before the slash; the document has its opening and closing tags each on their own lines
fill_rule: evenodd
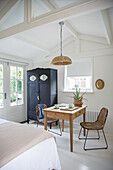
<svg viewBox="0 0 113 170">
<path fill-rule="evenodd" d="M 95 122 L 81 122 L 80 123 L 81 129 L 80 129 L 78 138 L 79 139 L 85 139 L 84 147 L 83 147 L 84 150 L 95 150 L 95 149 L 107 149 L 108 148 L 107 139 L 106 139 L 106 136 L 105 136 L 105 133 L 104 133 L 104 125 L 105 125 L 105 122 L 106 122 L 107 115 L 108 115 L 108 109 L 102 108 L 100 110 L 100 113 L 99 113 L 97 120 Z M 80 137 L 82 128 L 86 129 L 85 138 Z M 98 138 L 88 138 L 89 130 L 97 130 Z M 102 147 L 102 148 L 100 148 L 100 147 L 98 147 L 98 148 L 86 148 L 86 141 L 88 139 L 100 139 L 99 130 L 102 130 L 102 132 L 103 132 L 103 136 L 104 136 L 104 139 L 105 139 L 106 146 Z"/>
</svg>

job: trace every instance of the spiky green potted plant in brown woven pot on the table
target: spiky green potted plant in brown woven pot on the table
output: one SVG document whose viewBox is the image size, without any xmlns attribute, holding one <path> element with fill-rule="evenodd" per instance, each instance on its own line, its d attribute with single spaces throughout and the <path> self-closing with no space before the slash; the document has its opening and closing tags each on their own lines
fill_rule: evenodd
<svg viewBox="0 0 113 170">
<path fill-rule="evenodd" d="M 76 91 L 73 93 L 73 98 L 74 98 L 73 104 L 74 104 L 74 106 L 79 106 L 79 107 L 81 107 L 82 104 L 83 104 L 83 102 L 82 102 L 83 95 L 84 95 L 86 92 L 84 92 L 84 93 L 82 93 L 82 94 L 80 95 L 80 88 L 78 88 L 78 87 L 79 87 L 78 85 L 75 85 Z"/>
</svg>

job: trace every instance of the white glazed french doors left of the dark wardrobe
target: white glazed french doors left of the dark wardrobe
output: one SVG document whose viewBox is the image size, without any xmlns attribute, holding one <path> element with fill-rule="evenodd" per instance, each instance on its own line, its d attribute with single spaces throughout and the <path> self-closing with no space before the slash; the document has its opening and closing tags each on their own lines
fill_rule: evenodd
<svg viewBox="0 0 113 170">
<path fill-rule="evenodd" d="M 0 117 L 25 120 L 25 68 L 0 62 Z"/>
</svg>

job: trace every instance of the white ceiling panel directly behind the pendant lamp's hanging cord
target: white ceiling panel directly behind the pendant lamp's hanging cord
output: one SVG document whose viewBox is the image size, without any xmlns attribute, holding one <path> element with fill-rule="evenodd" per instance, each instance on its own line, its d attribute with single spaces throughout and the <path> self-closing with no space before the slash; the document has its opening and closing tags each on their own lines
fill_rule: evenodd
<svg viewBox="0 0 113 170">
<path fill-rule="evenodd" d="M 58 23 L 46 24 L 21 33 L 25 38 L 29 38 L 51 49 L 60 42 L 60 26 Z M 70 33 L 63 27 L 63 40 L 65 41 Z"/>
</svg>

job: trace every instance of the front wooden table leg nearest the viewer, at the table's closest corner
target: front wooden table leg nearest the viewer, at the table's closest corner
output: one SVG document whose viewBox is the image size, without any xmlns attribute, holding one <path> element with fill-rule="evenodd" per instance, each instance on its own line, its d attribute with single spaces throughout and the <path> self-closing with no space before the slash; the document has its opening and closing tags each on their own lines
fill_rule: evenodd
<svg viewBox="0 0 113 170">
<path fill-rule="evenodd" d="M 70 115 L 70 151 L 73 152 L 73 119 Z"/>
</svg>

